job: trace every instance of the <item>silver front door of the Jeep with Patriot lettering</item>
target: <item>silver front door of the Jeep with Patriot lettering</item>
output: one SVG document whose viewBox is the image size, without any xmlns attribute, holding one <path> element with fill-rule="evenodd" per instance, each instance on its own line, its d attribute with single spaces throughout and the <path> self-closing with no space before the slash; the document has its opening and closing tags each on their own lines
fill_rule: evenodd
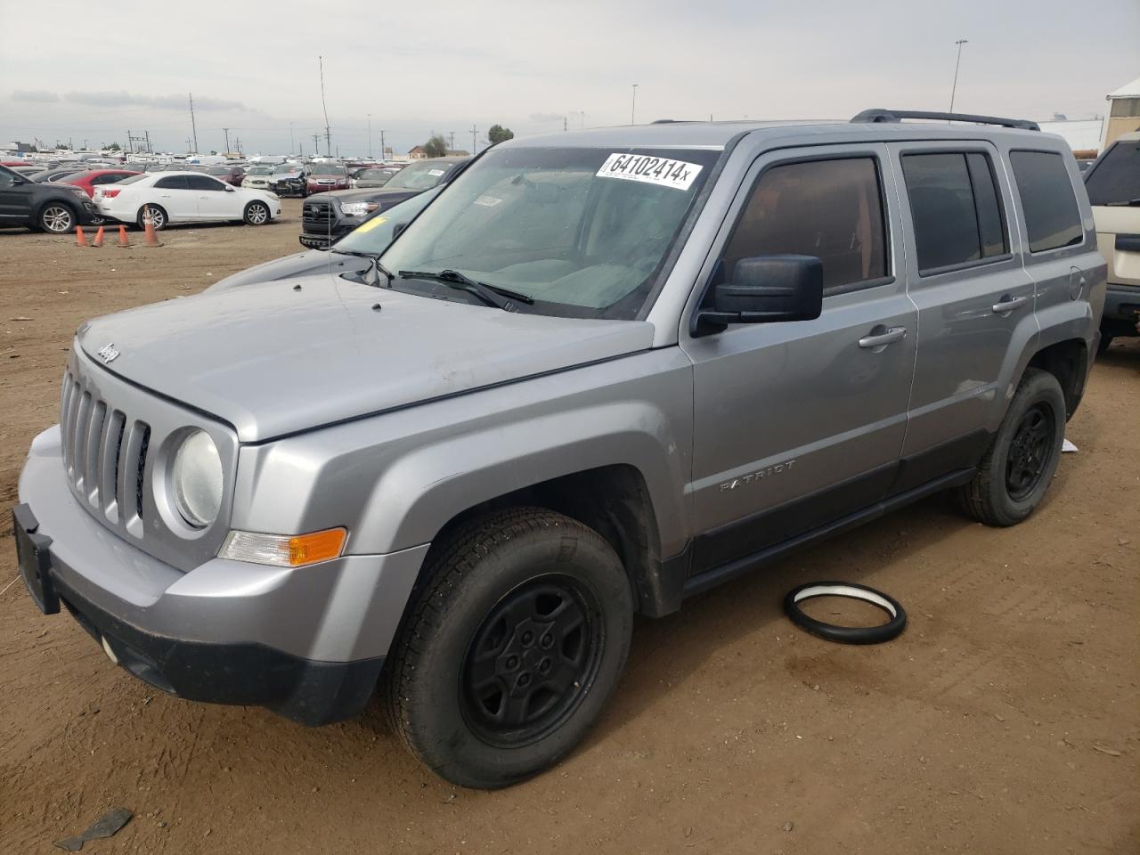
<svg viewBox="0 0 1140 855">
<path fill-rule="evenodd" d="M 917 319 L 891 198 L 881 144 L 752 164 L 717 237 L 710 284 L 742 258 L 815 255 L 823 312 L 699 337 L 682 331 L 694 363 L 694 573 L 871 506 L 890 487 Z"/>
</svg>

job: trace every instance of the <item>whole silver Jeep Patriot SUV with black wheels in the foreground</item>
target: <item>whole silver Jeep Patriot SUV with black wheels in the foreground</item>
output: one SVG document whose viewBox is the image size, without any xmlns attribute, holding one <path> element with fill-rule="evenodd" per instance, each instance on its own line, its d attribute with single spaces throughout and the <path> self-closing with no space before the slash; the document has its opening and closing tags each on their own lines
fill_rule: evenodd
<svg viewBox="0 0 1140 855">
<path fill-rule="evenodd" d="M 500 787 L 583 739 L 635 613 L 937 490 L 1028 516 L 1105 280 L 1029 122 L 512 140 L 363 272 L 83 324 L 21 570 L 158 689 L 310 725 L 375 690 Z"/>
</svg>

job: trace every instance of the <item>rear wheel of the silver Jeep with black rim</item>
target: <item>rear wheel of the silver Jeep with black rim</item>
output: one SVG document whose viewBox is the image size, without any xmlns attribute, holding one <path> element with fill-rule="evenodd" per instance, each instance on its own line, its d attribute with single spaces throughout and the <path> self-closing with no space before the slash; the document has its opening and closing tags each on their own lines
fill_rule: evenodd
<svg viewBox="0 0 1140 855">
<path fill-rule="evenodd" d="M 974 479 L 959 488 L 968 516 L 1015 526 L 1034 512 L 1057 471 L 1065 441 L 1065 394 L 1049 372 L 1027 368 Z"/>
</svg>

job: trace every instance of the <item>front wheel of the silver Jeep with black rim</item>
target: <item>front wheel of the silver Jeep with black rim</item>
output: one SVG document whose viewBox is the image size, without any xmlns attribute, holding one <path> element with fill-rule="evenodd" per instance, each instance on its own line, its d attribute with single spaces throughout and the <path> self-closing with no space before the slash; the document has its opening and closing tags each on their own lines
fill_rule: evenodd
<svg viewBox="0 0 1140 855">
<path fill-rule="evenodd" d="M 593 529 L 534 507 L 478 518 L 443 544 L 405 618 L 385 668 L 392 723 L 451 783 L 529 777 L 597 718 L 633 612 L 626 571 Z"/>
</svg>

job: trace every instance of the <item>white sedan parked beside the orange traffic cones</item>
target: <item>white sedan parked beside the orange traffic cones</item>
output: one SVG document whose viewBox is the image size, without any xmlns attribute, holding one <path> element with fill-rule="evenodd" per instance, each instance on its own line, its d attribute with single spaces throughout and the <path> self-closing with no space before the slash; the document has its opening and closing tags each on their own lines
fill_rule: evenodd
<svg viewBox="0 0 1140 855">
<path fill-rule="evenodd" d="M 231 187 L 201 172 L 144 172 L 96 188 L 99 213 L 121 222 L 144 225 L 150 210 L 156 229 L 177 222 L 243 220 L 263 226 L 280 217 L 282 201 L 267 190 Z"/>
</svg>

